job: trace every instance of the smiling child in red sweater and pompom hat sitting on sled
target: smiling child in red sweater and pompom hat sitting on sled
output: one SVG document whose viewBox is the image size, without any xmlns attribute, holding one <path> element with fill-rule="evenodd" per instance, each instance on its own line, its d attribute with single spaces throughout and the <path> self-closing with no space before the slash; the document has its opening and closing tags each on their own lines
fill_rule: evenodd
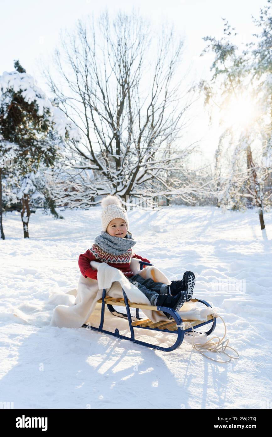
<svg viewBox="0 0 272 437">
<path fill-rule="evenodd" d="M 184 302 L 193 296 L 195 275 L 186 271 L 181 281 L 171 284 L 144 279 L 139 274 L 133 274 L 130 269 L 131 258 L 150 263 L 146 258 L 136 255 L 132 247 L 136 244 L 131 232 L 128 231 L 127 212 L 116 196 L 107 196 L 101 202 L 102 232 L 94 240 L 93 246 L 79 255 L 79 269 L 83 276 L 97 280 L 97 270 L 93 270 L 90 261 L 107 263 L 116 267 L 127 279 L 141 290 L 151 302 L 151 305 L 166 306 L 179 311 Z M 168 313 L 165 315 L 170 318 Z"/>
</svg>

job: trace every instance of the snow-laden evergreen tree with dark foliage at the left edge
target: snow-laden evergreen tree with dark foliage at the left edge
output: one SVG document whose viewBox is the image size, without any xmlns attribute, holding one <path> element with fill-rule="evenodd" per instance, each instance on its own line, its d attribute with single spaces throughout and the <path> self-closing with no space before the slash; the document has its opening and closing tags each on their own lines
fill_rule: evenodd
<svg viewBox="0 0 272 437">
<path fill-rule="evenodd" d="M 29 237 L 30 198 L 41 166 L 53 167 L 62 141 L 80 141 L 76 126 L 52 104 L 19 61 L 15 71 L 0 76 L 0 153 L 16 149 L 14 179 L 21 198 L 24 237 Z M 54 205 L 52 205 L 54 209 Z"/>
</svg>

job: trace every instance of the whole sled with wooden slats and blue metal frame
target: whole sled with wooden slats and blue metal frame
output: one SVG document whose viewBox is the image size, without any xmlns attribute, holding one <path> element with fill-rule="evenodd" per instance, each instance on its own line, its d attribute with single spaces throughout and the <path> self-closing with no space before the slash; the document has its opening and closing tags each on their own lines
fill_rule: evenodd
<svg viewBox="0 0 272 437">
<path fill-rule="evenodd" d="M 141 270 L 143 269 L 143 265 L 153 265 L 150 263 L 147 263 L 145 261 L 139 261 Z M 123 289 L 122 289 L 123 290 Z M 152 306 L 152 305 L 143 305 L 143 304 L 137 304 L 134 302 L 130 302 L 127 299 L 127 295 L 123 290 L 124 298 L 112 298 L 110 296 L 106 296 L 106 289 L 103 289 L 102 298 L 97 301 L 101 303 L 101 316 L 100 316 L 100 325 L 97 328 L 96 326 L 91 326 L 89 320 L 86 321 L 86 323 L 82 326 L 83 328 L 93 329 L 98 332 L 103 332 L 105 334 L 114 335 L 117 338 L 121 338 L 124 340 L 130 340 L 134 343 L 141 344 L 143 346 L 152 347 L 154 349 L 158 350 L 164 350 L 165 352 L 169 352 L 171 350 L 175 350 L 177 347 L 179 347 L 184 339 L 185 334 L 189 334 L 192 332 L 192 328 L 185 328 L 185 324 L 182 322 L 182 319 L 180 317 L 180 313 L 173 311 L 170 308 L 162 307 L 162 306 Z M 208 307 L 211 307 L 208 302 L 202 300 L 202 299 L 191 299 L 191 302 L 201 302 L 203 305 L 206 305 Z M 117 317 L 121 317 L 123 319 L 127 319 L 129 328 L 130 328 L 130 337 L 123 336 L 119 333 L 119 329 L 116 328 L 114 332 L 107 331 L 106 329 L 103 329 L 104 324 L 104 315 L 105 315 L 105 305 L 107 305 L 107 308 L 110 310 L 111 314 Z M 118 307 L 124 307 L 126 309 L 126 314 L 122 312 L 118 312 L 116 309 L 114 309 L 114 306 Z M 131 309 L 136 309 L 136 316 L 131 315 Z M 151 311 L 163 311 L 167 312 L 172 316 L 172 319 L 170 320 L 163 320 L 160 322 L 153 323 L 150 319 L 141 319 L 139 317 L 139 309 L 146 309 Z M 185 322 L 188 322 L 186 320 Z M 205 334 L 208 336 L 210 335 L 216 326 L 216 317 L 211 315 L 207 316 L 207 322 L 203 322 L 200 320 L 189 320 L 191 323 L 191 326 L 193 326 L 193 329 L 195 332 L 196 329 L 200 328 L 201 326 L 207 325 L 209 323 L 212 324 L 209 331 L 205 332 Z M 162 346 L 156 346 L 155 344 L 146 343 L 141 340 L 135 339 L 135 333 L 134 329 L 149 329 L 151 331 L 158 331 L 158 332 L 164 332 L 164 333 L 172 333 L 176 335 L 176 341 L 175 343 L 170 347 L 162 347 Z M 200 332 L 201 333 L 201 332 Z"/>
</svg>

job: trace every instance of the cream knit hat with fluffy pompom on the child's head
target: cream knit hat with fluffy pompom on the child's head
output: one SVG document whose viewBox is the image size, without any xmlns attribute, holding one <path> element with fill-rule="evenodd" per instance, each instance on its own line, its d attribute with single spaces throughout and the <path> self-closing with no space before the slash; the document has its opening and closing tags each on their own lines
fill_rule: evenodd
<svg viewBox="0 0 272 437">
<path fill-rule="evenodd" d="M 101 224 L 104 232 L 107 231 L 108 224 L 114 218 L 123 218 L 126 222 L 128 230 L 127 212 L 122 207 L 121 200 L 117 198 L 117 196 L 112 196 L 109 194 L 107 197 L 104 197 L 101 201 L 101 206 L 103 208 L 101 213 Z"/>
</svg>

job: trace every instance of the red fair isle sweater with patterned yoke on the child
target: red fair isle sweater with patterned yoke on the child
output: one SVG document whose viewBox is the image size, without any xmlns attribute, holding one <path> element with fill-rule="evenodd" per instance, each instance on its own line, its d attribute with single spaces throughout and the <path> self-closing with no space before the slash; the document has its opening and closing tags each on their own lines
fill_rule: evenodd
<svg viewBox="0 0 272 437">
<path fill-rule="evenodd" d="M 93 244 L 89 250 L 79 255 L 79 269 L 84 277 L 90 277 L 97 281 L 97 270 L 92 269 L 90 261 L 98 261 L 121 270 L 126 277 L 131 277 L 133 276 L 133 272 L 130 269 L 131 258 L 138 258 L 138 260 L 150 263 L 146 258 L 136 255 L 132 249 L 128 249 L 121 255 L 113 255 L 112 253 L 105 252 L 97 244 Z"/>
</svg>

